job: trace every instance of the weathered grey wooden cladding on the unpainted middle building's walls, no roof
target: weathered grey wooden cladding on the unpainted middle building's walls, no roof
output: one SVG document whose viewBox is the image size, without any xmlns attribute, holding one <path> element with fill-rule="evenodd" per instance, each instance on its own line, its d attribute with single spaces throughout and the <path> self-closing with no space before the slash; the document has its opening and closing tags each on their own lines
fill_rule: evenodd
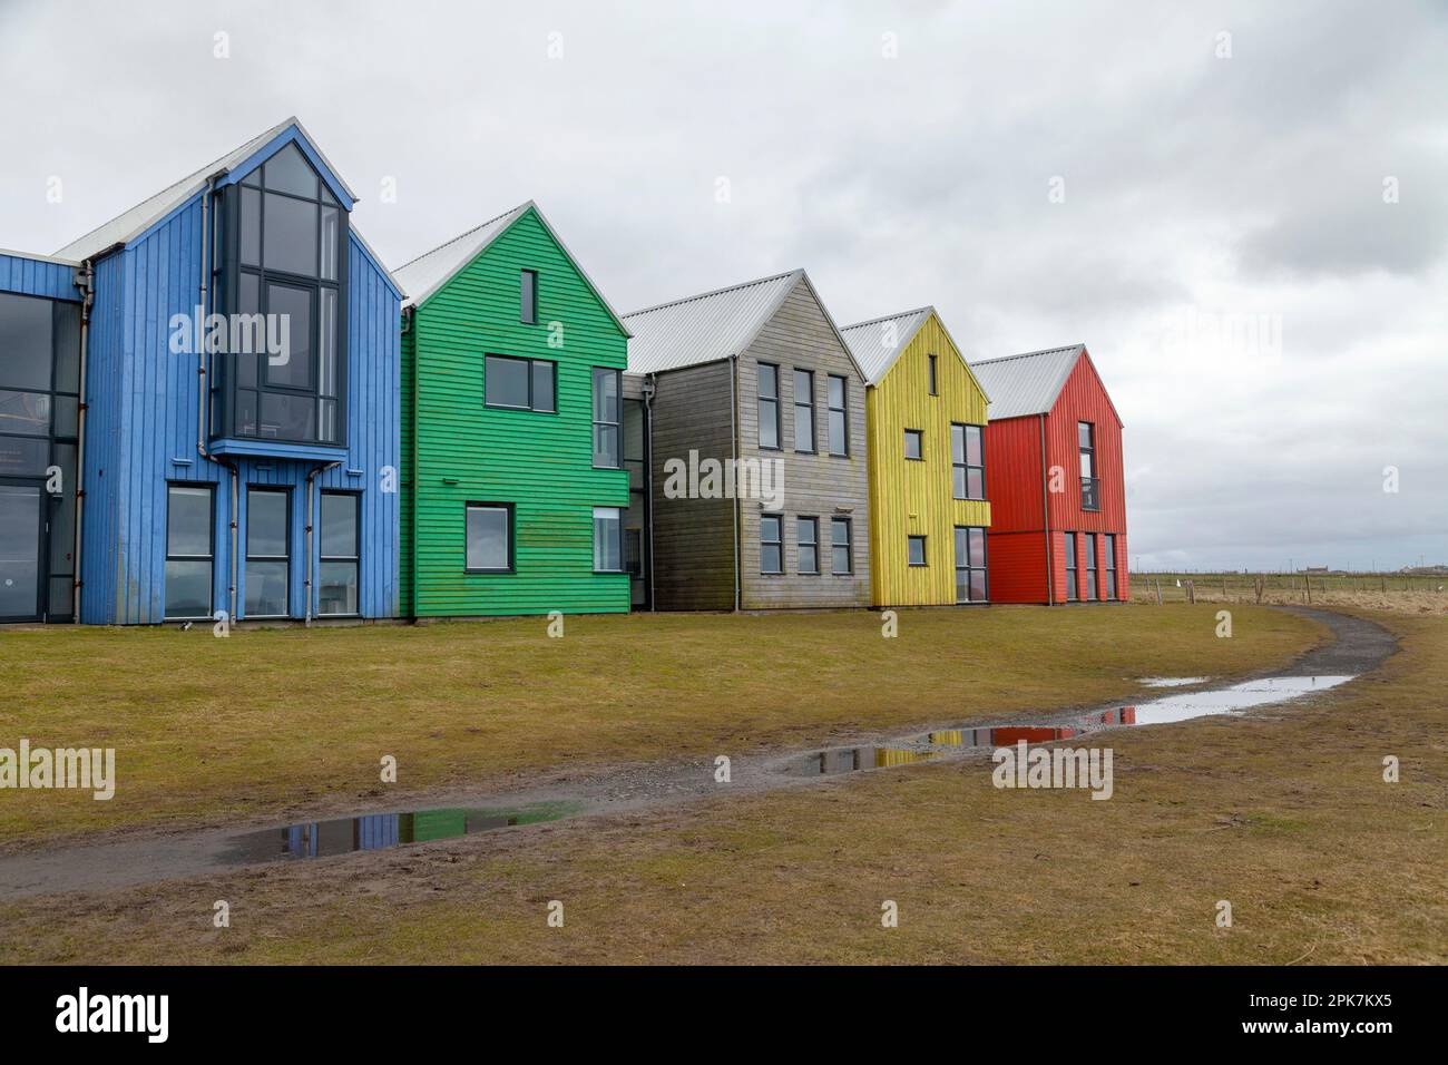
<svg viewBox="0 0 1448 1065">
<path fill-rule="evenodd" d="M 759 448 L 757 367 L 779 367 L 779 451 Z M 736 590 L 736 514 L 730 498 L 668 498 L 669 459 L 728 462 L 734 455 L 736 364 L 718 362 L 653 375 L 653 590 L 659 610 L 730 610 Z M 814 374 L 815 454 L 795 452 L 795 369 Z M 847 380 L 849 456 L 827 454 L 827 380 Z M 641 394 L 640 377 L 627 377 L 626 397 Z M 866 468 L 864 381 L 801 275 L 778 312 L 737 358 L 738 455 L 750 464 L 775 462 L 782 497 L 738 501 L 738 581 L 744 610 L 864 607 L 870 593 L 869 478 Z M 760 574 L 759 526 L 765 513 L 782 516 L 783 574 Z M 798 567 L 796 519 L 818 519 L 818 574 Z M 851 572 L 831 572 L 831 519 L 851 523 Z"/>
</svg>

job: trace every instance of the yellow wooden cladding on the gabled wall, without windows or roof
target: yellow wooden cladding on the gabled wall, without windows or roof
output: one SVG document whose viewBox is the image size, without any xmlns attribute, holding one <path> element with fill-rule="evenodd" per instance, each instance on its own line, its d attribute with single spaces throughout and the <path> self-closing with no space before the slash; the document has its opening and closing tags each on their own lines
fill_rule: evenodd
<svg viewBox="0 0 1448 1065">
<path fill-rule="evenodd" d="M 931 355 L 935 355 L 938 396 L 930 394 Z M 990 504 L 954 498 L 950 426 L 985 426 L 986 397 L 934 313 L 880 383 L 869 388 L 864 416 L 870 439 L 870 603 L 953 604 L 954 529 L 989 526 Z M 906 429 L 924 433 L 924 461 L 905 458 Z M 924 567 L 908 562 L 909 536 L 925 536 Z"/>
</svg>

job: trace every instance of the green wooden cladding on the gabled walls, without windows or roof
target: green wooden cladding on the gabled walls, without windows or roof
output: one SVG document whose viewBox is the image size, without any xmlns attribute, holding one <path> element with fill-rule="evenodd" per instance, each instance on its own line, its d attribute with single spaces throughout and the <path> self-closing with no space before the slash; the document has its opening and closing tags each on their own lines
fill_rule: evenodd
<svg viewBox="0 0 1448 1065">
<path fill-rule="evenodd" d="M 537 271 L 536 325 L 520 322 L 524 270 Z M 485 355 L 555 361 L 557 413 L 487 407 Z M 414 310 L 403 335 L 404 610 L 628 610 L 628 575 L 594 572 L 594 507 L 627 507 L 628 474 L 595 469 L 592 449 L 592 369 L 627 362 L 627 336 L 531 207 Z M 468 503 L 513 504 L 514 572 L 465 572 Z"/>
</svg>

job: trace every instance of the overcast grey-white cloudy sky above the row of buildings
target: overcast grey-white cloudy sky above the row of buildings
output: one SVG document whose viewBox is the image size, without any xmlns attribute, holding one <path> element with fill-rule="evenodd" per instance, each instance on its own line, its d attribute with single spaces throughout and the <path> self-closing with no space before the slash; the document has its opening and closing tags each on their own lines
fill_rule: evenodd
<svg viewBox="0 0 1448 1065">
<path fill-rule="evenodd" d="M 1444 0 L 342 10 L 0 0 L 0 246 L 295 114 L 390 265 L 536 199 L 621 312 L 805 267 L 1085 342 L 1135 568 L 1448 562 Z"/>
</svg>

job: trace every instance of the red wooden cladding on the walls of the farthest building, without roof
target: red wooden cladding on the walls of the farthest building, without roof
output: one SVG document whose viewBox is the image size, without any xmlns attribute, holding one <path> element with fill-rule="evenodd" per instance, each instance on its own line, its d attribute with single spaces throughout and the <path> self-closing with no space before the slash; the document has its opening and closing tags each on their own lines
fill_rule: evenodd
<svg viewBox="0 0 1448 1065">
<path fill-rule="evenodd" d="M 1077 449 L 1080 422 L 1090 422 L 1093 426 L 1095 472 L 1100 484 L 1099 510 L 1082 507 Z M 1048 491 L 1053 481 L 1058 491 Z M 1106 535 L 1116 538 L 1115 598 L 1121 601 L 1128 598 L 1131 578 L 1127 569 L 1127 485 L 1121 419 L 1085 351 L 1050 413 L 992 419 L 986 426 L 986 488 L 992 519 L 989 533 L 992 601 L 1067 601 L 1064 536 L 1067 532 L 1077 533 L 1076 575 L 1080 598 L 1086 600 L 1087 580 L 1083 533 L 1098 533 L 1096 598 L 1100 601 L 1112 598 L 1106 587 Z M 1050 580 L 1047 580 L 1047 538 L 1041 522 L 1043 490 L 1051 529 Z"/>
</svg>

